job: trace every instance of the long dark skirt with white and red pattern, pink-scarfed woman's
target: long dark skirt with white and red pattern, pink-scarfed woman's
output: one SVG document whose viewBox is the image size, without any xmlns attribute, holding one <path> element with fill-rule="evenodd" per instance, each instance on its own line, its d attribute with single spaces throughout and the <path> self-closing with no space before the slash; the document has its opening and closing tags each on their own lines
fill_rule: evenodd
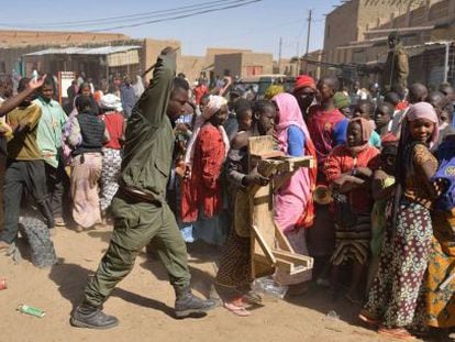
<svg viewBox="0 0 455 342">
<path fill-rule="evenodd" d="M 421 291 L 433 235 L 430 211 L 403 200 L 397 227 L 390 223 L 380 252 L 379 269 L 364 308 L 387 328 L 410 327 Z"/>
</svg>

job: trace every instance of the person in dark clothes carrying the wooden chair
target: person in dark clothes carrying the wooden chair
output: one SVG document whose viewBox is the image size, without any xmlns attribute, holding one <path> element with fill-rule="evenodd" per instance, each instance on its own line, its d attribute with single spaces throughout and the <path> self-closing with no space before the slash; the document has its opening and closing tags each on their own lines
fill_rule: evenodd
<svg viewBox="0 0 455 342">
<path fill-rule="evenodd" d="M 223 306 L 236 316 L 249 316 L 248 301 L 260 300 L 251 290 L 251 202 L 247 187 L 267 185 L 270 179 L 260 176 L 255 167 L 248 166 L 249 136 L 270 134 L 274 129 L 276 111 L 268 100 L 259 100 L 253 109 L 253 129 L 243 139 L 233 141 L 228 156 L 228 179 L 235 186 L 233 228 L 224 245 L 217 274 L 217 289 Z"/>
</svg>

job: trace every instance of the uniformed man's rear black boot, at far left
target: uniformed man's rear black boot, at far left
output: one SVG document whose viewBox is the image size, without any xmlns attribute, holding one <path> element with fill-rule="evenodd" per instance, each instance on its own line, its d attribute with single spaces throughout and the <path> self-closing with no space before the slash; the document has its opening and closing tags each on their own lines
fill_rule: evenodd
<svg viewBox="0 0 455 342">
<path fill-rule="evenodd" d="M 101 309 L 82 304 L 77 307 L 69 320 L 73 327 L 90 329 L 110 329 L 119 326 L 119 320 L 113 316 L 108 316 Z"/>
</svg>

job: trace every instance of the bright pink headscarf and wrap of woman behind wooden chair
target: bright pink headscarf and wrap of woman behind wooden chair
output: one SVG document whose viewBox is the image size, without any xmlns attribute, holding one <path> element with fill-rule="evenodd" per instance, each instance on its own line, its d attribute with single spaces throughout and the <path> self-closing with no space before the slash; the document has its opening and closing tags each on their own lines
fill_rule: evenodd
<svg viewBox="0 0 455 342">
<path fill-rule="evenodd" d="M 288 153 L 288 131 L 291 125 L 304 135 L 304 155 L 317 158 L 315 148 L 303 121 L 297 99 L 290 93 L 280 93 L 273 99 L 279 109 L 279 123 L 275 125 L 279 148 Z M 313 224 L 314 206 L 312 192 L 315 188 L 318 168 L 300 168 L 281 186 L 274 198 L 274 220 L 282 232 Z"/>
</svg>

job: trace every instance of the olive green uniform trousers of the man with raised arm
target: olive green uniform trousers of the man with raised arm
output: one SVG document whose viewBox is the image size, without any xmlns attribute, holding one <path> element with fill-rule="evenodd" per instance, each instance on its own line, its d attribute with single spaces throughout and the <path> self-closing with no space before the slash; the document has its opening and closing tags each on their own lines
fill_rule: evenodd
<svg viewBox="0 0 455 342">
<path fill-rule="evenodd" d="M 111 206 L 114 218 L 111 242 L 86 287 L 85 301 L 96 307 L 102 305 L 131 272 L 137 253 L 152 240 L 174 288 L 189 286 L 187 247 L 168 205 L 158 207 L 115 196 Z"/>
</svg>

